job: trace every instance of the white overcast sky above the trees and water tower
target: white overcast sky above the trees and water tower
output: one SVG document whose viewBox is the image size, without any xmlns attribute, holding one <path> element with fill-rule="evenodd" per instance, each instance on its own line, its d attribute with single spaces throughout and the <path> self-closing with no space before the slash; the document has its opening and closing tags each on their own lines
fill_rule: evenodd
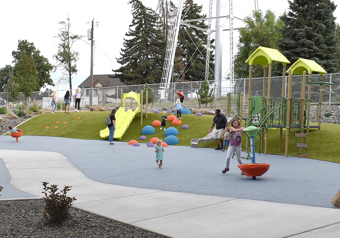
<svg viewBox="0 0 340 238">
<path fill-rule="evenodd" d="M 156 9 L 157 0 L 141 0 L 142 3 Z M 270 8 L 277 16 L 283 14 L 289 7 L 288 1 L 273 0 L 238 0 L 233 1 L 234 16 L 244 18 L 255 10 L 254 2 L 258 2 L 259 9 L 266 11 Z M 337 3 L 339 0 L 336 0 Z M 57 52 L 58 34 L 60 24 L 58 21 L 71 20 L 70 32 L 78 35 L 86 35 L 91 28 L 92 19 L 95 20 L 94 40 L 94 74 L 112 74 L 112 69 L 118 69 L 120 65 L 116 58 L 120 57 L 120 49 L 123 47 L 123 38 L 128 32 L 129 24 L 132 21 L 131 4 L 129 0 L 59 0 L 59 1 L 1 1 L 0 19 L 2 23 L 2 37 L 0 48 L 0 68 L 5 65 L 13 65 L 12 51 L 17 49 L 18 40 L 33 42 L 40 50 L 41 55 L 48 58 L 51 64 L 56 64 L 53 54 Z M 204 13 L 208 15 L 209 0 L 194 0 L 195 3 L 204 6 Z M 221 1 L 223 13 L 229 14 L 229 1 Z M 340 2 L 339 2 L 340 3 Z M 338 4 L 339 4 L 338 3 Z M 340 4 L 339 4 L 340 5 Z M 213 0 L 212 16 L 216 15 L 216 0 Z M 334 16 L 340 16 L 339 7 Z M 340 17 L 336 19 L 340 23 Z M 212 20 L 212 26 L 215 21 Z M 235 20 L 234 28 L 241 27 L 242 23 Z M 224 29 L 229 28 L 228 20 L 225 20 Z M 212 37 L 215 37 L 212 35 Z M 77 62 L 78 74 L 72 79 L 72 88 L 76 89 L 90 74 L 90 41 L 87 37 L 84 41 L 78 40 L 73 50 L 80 53 Z M 238 34 L 234 34 L 234 45 L 237 44 Z M 229 64 L 229 33 L 223 33 L 223 71 L 222 77 L 228 73 Z M 54 83 L 61 73 L 52 73 Z M 51 87 L 49 87 L 51 88 Z M 66 85 L 58 85 L 53 88 L 65 89 Z"/>
</svg>

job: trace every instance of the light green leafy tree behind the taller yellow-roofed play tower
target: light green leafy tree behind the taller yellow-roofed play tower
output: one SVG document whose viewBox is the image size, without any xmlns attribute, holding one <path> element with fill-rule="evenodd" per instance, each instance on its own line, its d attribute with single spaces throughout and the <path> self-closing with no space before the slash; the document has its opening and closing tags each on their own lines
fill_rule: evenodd
<svg viewBox="0 0 340 238">
<path fill-rule="evenodd" d="M 275 19 L 275 14 L 267 10 L 263 15 L 261 10 L 253 11 L 250 16 L 245 17 L 245 27 L 239 30 L 238 52 L 235 57 L 235 78 L 248 78 L 249 65 L 245 63 L 248 57 L 259 47 L 278 49 L 277 39 L 281 38 L 279 29 L 283 23 Z M 252 77 L 263 77 L 263 66 L 254 65 Z M 282 64 L 273 63 L 272 76 L 282 75 Z"/>
</svg>

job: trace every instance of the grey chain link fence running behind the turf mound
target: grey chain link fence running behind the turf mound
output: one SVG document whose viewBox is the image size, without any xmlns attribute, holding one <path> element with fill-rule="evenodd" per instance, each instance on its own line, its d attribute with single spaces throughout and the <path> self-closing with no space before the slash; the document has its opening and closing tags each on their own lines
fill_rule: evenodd
<svg viewBox="0 0 340 238">
<path fill-rule="evenodd" d="M 306 85 L 305 85 L 305 98 L 308 98 L 308 80 L 309 76 L 306 75 Z M 312 75 L 312 82 L 320 82 L 320 75 Z M 271 98 L 281 98 L 282 97 L 282 77 L 271 77 L 271 89 L 270 89 L 270 97 Z M 331 85 L 331 90 L 333 93 L 326 92 L 328 90 L 328 86 L 324 87 L 324 92 L 322 93 L 322 104 L 340 104 L 340 74 L 324 74 L 323 81 L 326 83 L 333 83 Z M 189 107 L 206 107 L 206 105 L 201 105 L 199 102 L 199 90 L 201 88 L 201 84 L 203 81 L 192 81 L 192 82 L 181 82 L 181 83 L 171 83 L 163 87 L 164 85 L 160 84 L 149 84 L 149 92 L 148 92 L 148 106 L 152 107 L 160 107 L 160 108 L 169 108 L 172 106 L 176 99 L 179 98 L 177 94 L 174 93 L 174 89 L 182 92 L 185 95 L 184 105 Z M 292 77 L 292 97 L 300 98 L 302 91 L 302 76 L 294 75 Z M 212 89 L 214 94 L 214 99 L 212 103 L 208 104 L 207 107 L 217 107 L 217 106 L 225 106 L 226 105 L 226 95 L 230 92 L 239 92 L 243 93 L 244 100 L 243 104 L 248 104 L 248 87 L 249 87 L 249 78 L 243 79 L 224 79 L 221 81 L 221 94 L 217 95 L 217 89 L 214 85 L 214 81 L 211 80 L 208 82 L 210 85 L 210 89 Z M 266 88 L 265 88 L 265 96 L 267 96 L 268 90 L 268 78 L 266 79 Z M 90 102 L 90 93 L 92 90 L 92 105 L 99 107 L 121 107 L 121 92 L 129 93 L 131 91 L 135 93 L 141 93 L 143 90 L 143 104 L 145 106 L 146 92 L 145 85 L 132 85 L 132 86 L 118 86 L 118 87 L 98 87 L 98 88 L 86 88 L 80 89 L 82 94 L 82 100 L 80 102 L 80 107 L 83 109 L 89 109 Z M 56 100 L 58 109 L 64 108 L 64 95 L 67 90 L 58 90 L 56 94 Z M 152 91 L 152 92 L 151 92 Z M 288 76 L 285 77 L 284 84 L 284 97 L 288 95 Z M 32 108 L 37 105 L 39 109 L 48 109 L 51 105 L 52 97 L 50 94 L 52 91 L 40 91 L 33 92 L 30 96 L 25 96 L 23 93 L 19 93 L 18 97 L 14 100 L 7 97 L 6 93 L 0 93 L 0 99 L 6 100 L 6 107 L 9 110 L 18 110 L 19 108 L 23 108 L 27 110 L 28 108 Z M 70 104 L 70 108 L 74 110 L 74 98 L 73 95 L 75 93 L 75 89 L 71 90 L 72 101 Z M 251 85 L 251 96 L 262 96 L 263 95 L 263 78 L 252 78 Z M 310 103 L 318 104 L 319 96 L 320 96 L 320 84 L 311 84 L 311 94 L 310 94 Z M 0 107 L 3 100 L 0 100 Z M 124 106 L 130 108 L 138 107 L 137 102 L 132 100 L 131 98 L 127 98 L 125 102 L 123 102 Z"/>
</svg>

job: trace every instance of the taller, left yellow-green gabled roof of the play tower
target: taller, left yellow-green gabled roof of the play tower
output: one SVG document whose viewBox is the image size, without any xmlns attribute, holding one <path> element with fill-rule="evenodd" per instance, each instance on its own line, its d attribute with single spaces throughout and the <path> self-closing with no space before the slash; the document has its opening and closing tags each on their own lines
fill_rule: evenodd
<svg viewBox="0 0 340 238">
<path fill-rule="evenodd" d="M 249 63 L 249 65 L 255 64 L 267 67 L 267 65 L 273 63 L 273 61 L 280 62 L 283 66 L 290 63 L 290 61 L 278 50 L 262 46 L 259 46 L 245 62 Z"/>
</svg>

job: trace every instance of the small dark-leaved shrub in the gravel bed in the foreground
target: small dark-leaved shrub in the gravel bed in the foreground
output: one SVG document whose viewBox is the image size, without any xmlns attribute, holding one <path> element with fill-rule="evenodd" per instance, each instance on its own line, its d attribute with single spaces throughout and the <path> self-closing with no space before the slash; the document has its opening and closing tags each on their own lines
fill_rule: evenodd
<svg viewBox="0 0 340 238">
<path fill-rule="evenodd" d="M 61 223 L 64 220 L 70 219 L 70 207 L 72 202 L 77 200 L 74 197 L 67 197 L 66 193 L 71 190 L 71 186 L 64 187 L 63 190 L 58 191 L 58 185 L 51 185 L 48 187 L 48 182 L 41 182 L 44 186 L 45 194 L 45 210 L 44 217 L 50 224 Z"/>
</svg>

